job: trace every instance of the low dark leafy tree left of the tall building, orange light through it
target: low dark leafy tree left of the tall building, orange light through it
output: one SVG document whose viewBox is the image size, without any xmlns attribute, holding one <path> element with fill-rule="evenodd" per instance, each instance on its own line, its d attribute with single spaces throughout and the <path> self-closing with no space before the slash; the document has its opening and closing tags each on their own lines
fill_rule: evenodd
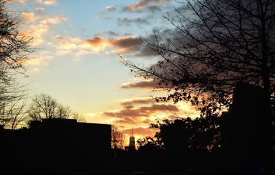
<svg viewBox="0 0 275 175">
<path fill-rule="evenodd" d="M 152 123 L 158 128 L 155 134 L 157 145 L 169 150 L 202 149 L 213 150 L 220 147 L 220 122 L 218 116 L 206 116 L 196 119 L 165 119 Z"/>
</svg>

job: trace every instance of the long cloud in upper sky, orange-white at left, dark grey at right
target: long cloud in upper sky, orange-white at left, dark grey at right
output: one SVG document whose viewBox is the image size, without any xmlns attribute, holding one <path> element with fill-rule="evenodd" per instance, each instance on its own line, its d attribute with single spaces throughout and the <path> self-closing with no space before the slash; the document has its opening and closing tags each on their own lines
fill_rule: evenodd
<svg viewBox="0 0 275 175">
<path fill-rule="evenodd" d="M 103 30 L 101 34 L 116 36 L 117 33 L 110 30 Z M 105 54 L 124 53 L 127 56 L 151 56 L 153 54 L 146 50 L 144 43 L 139 37 L 116 37 L 107 38 L 100 35 L 83 39 L 80 37 L 53 37 L 52 46 L 56 48 L 58 54 L 74 54 L 81 56 L 85 54 L 95 54 L 104 52 Z M 126 88 L 126 86 L 124 87 Z"/>
</svg>

